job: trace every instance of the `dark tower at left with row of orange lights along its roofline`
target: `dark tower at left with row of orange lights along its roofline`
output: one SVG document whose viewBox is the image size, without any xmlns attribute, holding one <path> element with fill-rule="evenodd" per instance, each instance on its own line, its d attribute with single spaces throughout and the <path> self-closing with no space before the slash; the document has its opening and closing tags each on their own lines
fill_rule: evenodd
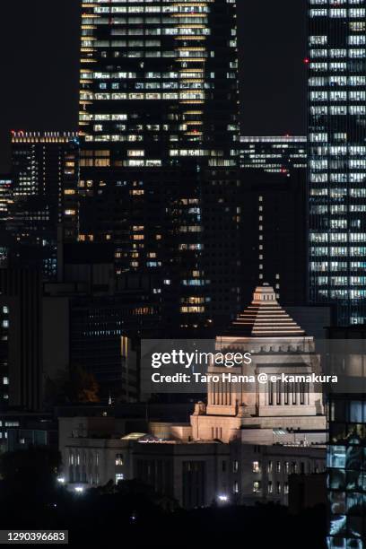
<svg viewBox="0 0 366 549">
<path fill-rule="evenodd" d="M 78 161 L 76 133 L 13 132 L 11 265 L 56 276 L 59 228 L 64 240 L 77 239 Z"/>
</svg>

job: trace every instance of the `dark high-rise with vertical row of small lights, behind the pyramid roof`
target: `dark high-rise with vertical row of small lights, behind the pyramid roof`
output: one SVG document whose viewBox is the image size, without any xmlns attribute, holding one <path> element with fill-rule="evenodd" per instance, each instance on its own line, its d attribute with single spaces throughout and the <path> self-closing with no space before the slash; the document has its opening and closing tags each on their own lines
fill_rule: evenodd
<svg viewBox="0 0 366 549">
<path fill-rule="evenodd" d="M 306 170 L 241 169 L 241 305 L 270 283 L 283 305 L 307 301 Z"/>
</svg>

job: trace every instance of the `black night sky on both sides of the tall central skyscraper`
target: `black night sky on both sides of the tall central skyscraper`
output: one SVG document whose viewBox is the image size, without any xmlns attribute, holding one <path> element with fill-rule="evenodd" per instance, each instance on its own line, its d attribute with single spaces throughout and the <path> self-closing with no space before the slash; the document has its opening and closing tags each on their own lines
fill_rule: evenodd
<svg viewBox="0 0 366 549">
<path fill-rule="evenodd" d="M 1 3 L 0 171 L 9 132 L 77 125 L 79 0 Z M 3 5 L 4 4 L 4 5 Z M 238 0 L 243 135 L 305 132 L 306 0 Z"/>
</svg>

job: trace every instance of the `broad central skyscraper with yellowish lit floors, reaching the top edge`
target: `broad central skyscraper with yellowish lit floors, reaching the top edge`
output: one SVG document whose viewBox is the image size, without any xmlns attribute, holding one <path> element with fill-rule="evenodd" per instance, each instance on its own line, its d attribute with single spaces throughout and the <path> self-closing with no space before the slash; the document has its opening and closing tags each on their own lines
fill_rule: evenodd
<svg viewBox="0 0 366 549">
<path fill-rule="evenodd" d="M 112 241 L 171 326 L 238 307 L 235 0 L 83 0 L 80 240 Z"/>
</svg>

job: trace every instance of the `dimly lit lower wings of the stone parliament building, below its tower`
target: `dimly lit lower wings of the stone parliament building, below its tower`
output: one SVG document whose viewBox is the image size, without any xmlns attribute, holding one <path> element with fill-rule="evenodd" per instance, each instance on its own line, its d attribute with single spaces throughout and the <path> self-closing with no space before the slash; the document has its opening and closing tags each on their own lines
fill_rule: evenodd
<svg viewBox="0 0 366 549">
<path fill-rule="evenodd" d="M 161 438 L 161 424 L 145 424 L 146 434 L 128 431 L 133 423 L 107 415 L 59 419 L 62 480 L 69 490 L 138 479 L 184 509 L 258 501 L 287 505 L 290 475 L 326 466 L 324 446 L 225 444 L 179 439 L 171 432 Z"/>
</svg>

